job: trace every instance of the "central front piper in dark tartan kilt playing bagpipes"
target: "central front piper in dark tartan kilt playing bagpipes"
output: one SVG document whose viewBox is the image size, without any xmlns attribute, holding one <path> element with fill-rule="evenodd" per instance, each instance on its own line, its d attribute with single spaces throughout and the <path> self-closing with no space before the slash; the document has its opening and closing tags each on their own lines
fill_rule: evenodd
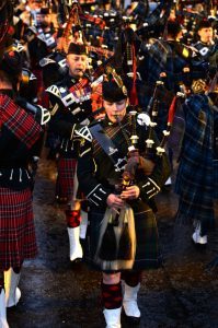
<svg viewBox="0 0 218 328">
<path fill-rule="evenodd" d="M 84 140 L 78 179 L 90 206 L 85 258 L 103 273 L 103 313 L 112 328 L 121 327 L 122 306 L 127 320 L 140 321 L 141 270 L 161 261 L 153 198 L 170 168 L 165 155 L 146 157 L 149 117 L 127 114 L 126 87 L 113 69 L 110 72 L 114 79 L 103 82 L 105 118 L 77 133 Z"/>
</svg>

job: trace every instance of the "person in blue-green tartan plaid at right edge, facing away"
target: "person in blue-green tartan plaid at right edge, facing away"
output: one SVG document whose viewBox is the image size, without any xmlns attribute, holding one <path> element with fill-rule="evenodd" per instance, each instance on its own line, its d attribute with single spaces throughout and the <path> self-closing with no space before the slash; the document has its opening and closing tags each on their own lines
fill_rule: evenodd
<svg viewBox="0 0 218 328">
<path fill-rule="evenodd" d="M 208 231 L 215 225 L 218 198 L 217 68 L 211 84 L 213 89 L 205 84 L 184 103 L 185 131 L 175 181 L 177 221 L 193 223 L 192 239 L 199 249 L 207 245 Z"/>
</svg>

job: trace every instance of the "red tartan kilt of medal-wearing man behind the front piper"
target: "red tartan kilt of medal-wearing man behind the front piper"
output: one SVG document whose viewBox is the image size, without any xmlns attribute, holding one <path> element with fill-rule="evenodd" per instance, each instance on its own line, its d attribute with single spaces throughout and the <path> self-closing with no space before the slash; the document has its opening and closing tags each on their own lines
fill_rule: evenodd
<svg viewBox="0 0 218 328">
<path fill-rule="evenodd" d="M 71 201 L 73 196 L 76 159 L 59 157 L 57 162 L 56 198 L 62 201 Z"/>
</svg>

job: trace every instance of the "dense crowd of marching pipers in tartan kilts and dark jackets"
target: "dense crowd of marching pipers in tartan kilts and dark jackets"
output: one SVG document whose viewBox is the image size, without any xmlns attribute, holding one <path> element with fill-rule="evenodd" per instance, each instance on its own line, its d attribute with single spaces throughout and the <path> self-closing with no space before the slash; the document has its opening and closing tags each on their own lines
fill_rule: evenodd
<svg viewBox="0 0 218 328">
<path fill-rule="evenodd" d="M 102 272 L 107 328 L 121 327 L 122 308 L 140 321 L 141 272 L 162 263 L 156 195 L 172 185 L 177 154 L 176 220 L 206 247 L 218 198 L 217 31 L 216 1 L 2 1 L 0 328 L 21 297 L 23 261 L 37 255 L 43 148 L 57 164 L 69 258 Z"/>
</svg>

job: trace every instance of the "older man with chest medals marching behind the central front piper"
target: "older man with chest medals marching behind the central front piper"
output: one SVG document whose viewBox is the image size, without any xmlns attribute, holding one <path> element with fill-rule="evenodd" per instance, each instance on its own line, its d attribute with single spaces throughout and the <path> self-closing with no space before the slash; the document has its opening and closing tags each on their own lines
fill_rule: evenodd
<svg viewBox="0 0 218 328">
<path fill-rule="evenodd" d="M 88 116 L 92 113 L 91 91 L 90 89 L 84 90 L 82 85 L 82 78 L 88 67 L 84 45 L 74 43 L 69 45 L 67 65 L 69 74 L 57 84 L 49 86 L 46 92 L 49 96 L 51 113 L 49 128 L 60 139 L 56 197 L 60 202 L 68 203 L 66 220 L 70 243 L 70 260 L 73 261 L 82 258 L 80 211 L 72 208 L 77 159 L 80 148 L 80 139 L 74 136 L 73 131 L 77 124 L 87 124 L 89 121 Z M 73 87 L 76 90 L 72 92 Z"/>
</svg>

